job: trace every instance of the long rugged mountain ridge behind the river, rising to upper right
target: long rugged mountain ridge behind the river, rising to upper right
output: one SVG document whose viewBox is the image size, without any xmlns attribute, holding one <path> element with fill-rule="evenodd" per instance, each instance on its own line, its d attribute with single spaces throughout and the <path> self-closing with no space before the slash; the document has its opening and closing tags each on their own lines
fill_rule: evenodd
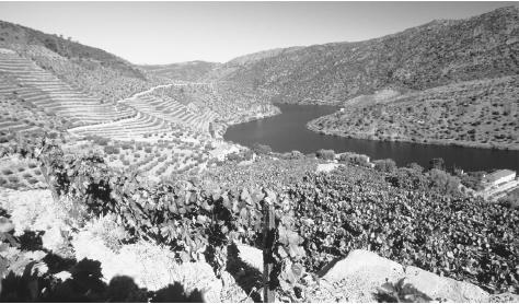
<svg viewBox="0 0 519 304">
<path fill-rule="evenodd" d="M 381 89 L 426 90 L 519 73 L 519 9 L 432 21 L 381 38 L 242 56 L 207 80 L 232 81 L 282 102 L 346 101 Z"/>
</svg>

